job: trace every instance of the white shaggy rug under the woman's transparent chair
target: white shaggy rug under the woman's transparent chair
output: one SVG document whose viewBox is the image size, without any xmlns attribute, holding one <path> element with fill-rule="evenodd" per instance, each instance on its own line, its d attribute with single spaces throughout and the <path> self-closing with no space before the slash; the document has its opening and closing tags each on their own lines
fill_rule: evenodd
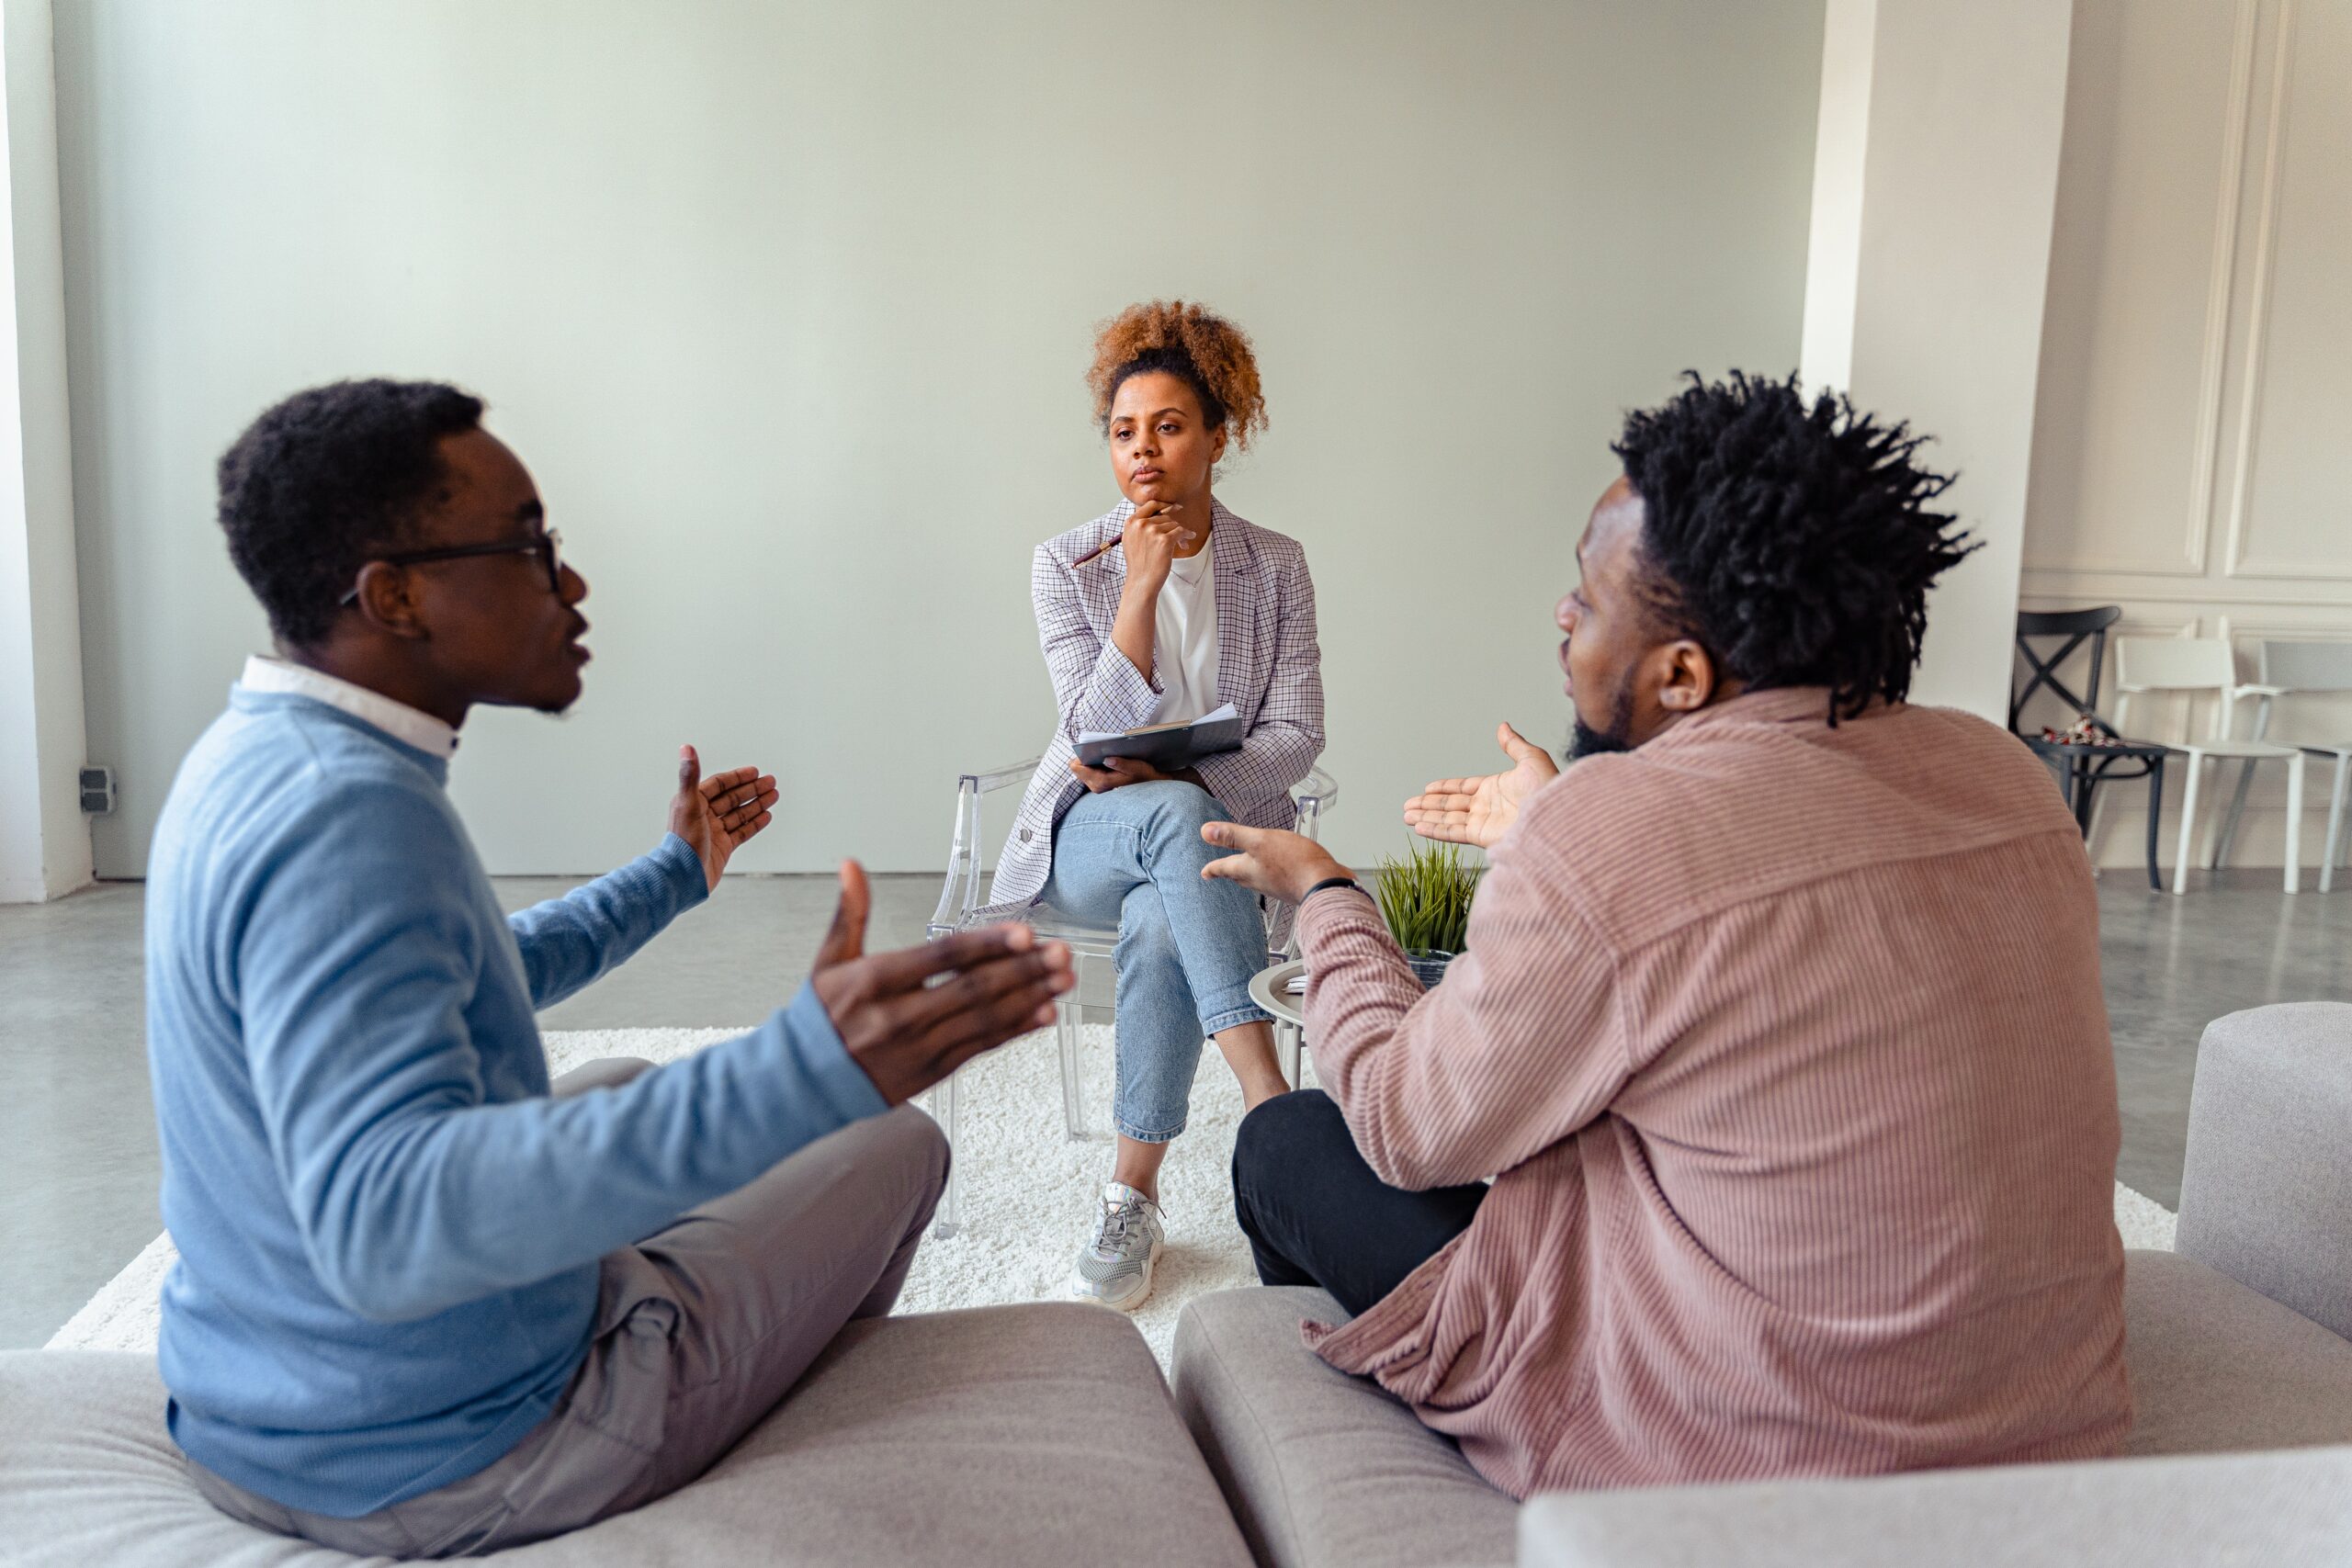
<svg viewBox="0 0 2352 1568">
<path fill-rule="evenodd" d="M 600 1056 L 666 1063 L 741 1030 L 569 1030 L 546 1037 L 548 1067 L 567 1072 Z M 964 1072 L 955 1171 L 962 1182 L 962 1234 L 931 1237 L 915 1255 L 898 1312 L 985 1307 L 1063 1295 L 1070 1265 L 1089 1234 L 1096 1194 L 1110 1178 L 1110 1030 L 1087 1027 L 1087 1107 L 1094 1135 L 1073 1143 L 1061 1117 L 1061 1058 L 1054 1034 L 1037 1032 Z M 1310 1079 L 1312 1081 L 1312 1074 Z M 1202 1051 L 1192 1084 L 1192 1119 L 1160 1173 L 1167 1253 L 1152 1298 L 1136 1326 L 1167 1366 L 1176 1314 L 1195 1295 L 1256 1284 L 1249 1244 L 1232 1220 L 1228 1161 L 1242 1121 L 1242 1091 L 1218 1058 Z M 2131 1187 L 2114 1187 L 2114 1225 L 2124 1246 L 2171 1251 L 2176 1218 Z M 172 1237 L 155 1237 L 89 1298 L 49 1340 L 49 1349 L 155 1349 L 158 1291 L 172 1267 Z"/>
</svg>

